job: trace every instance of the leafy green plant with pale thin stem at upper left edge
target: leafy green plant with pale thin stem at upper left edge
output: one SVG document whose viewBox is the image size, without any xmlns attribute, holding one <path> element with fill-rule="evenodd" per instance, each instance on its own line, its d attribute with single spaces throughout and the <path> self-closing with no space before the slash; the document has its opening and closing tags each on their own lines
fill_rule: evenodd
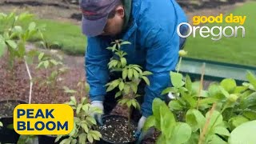
<svg viewBox="0 0 256 144">
<path fill-rule="evenodd" d="M 44 27 L 37 26 L 35 22 L 30 22 L 29 26 L 26 28 L 18 25 L 19 22 L 27 18 L 31 18 L 33 15 L 28 13 L 22 13 L 16 15 L 14 12 L 10 14 L 0 13 L 0 22 L 4 23 L 4 27 L 0 33 L 0 50 L 7 50 L 7 57 L 9 62 L 9 67 L 13 70 L 14 62 L 18 59 L 26 65 L 26 71 L 30 78 L 30 100 L 32 94 L 32 76 L 30 74 L 29 63 L 32 62 L 34 56 L 36 55 L 35 50 L 26 50 L 26 43 L 30 38 L 35 35 L 42 34 Z M 1 55 L 0 55 L 1 56 Z"/>
</svg>

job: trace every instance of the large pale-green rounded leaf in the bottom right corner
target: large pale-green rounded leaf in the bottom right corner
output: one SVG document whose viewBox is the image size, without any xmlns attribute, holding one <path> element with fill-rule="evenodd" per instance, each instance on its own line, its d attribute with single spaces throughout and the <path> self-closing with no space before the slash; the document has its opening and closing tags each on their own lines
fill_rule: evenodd
<svg viewBox="0 0 256 144">
<path fill-rule="evenodd" d="M 255 143 L 255 130 L 256 130 L 256 121 L 243 123 L 241 126 L 238 126 L 230 134 L 229 143 L 230 144 L 241 144 L 241 143 Z"/>
</svg>

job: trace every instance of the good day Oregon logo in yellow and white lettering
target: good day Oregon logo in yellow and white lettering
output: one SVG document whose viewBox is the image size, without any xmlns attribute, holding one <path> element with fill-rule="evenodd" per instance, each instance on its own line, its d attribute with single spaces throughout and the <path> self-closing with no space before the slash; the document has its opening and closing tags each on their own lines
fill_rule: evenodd
<svg viewBox="0 0 256 144">
<path fill-rule="evenodd" d="M 187 22 L 182 22 L 177 27 L 177 33 L 182 38 L 187 38 L 191 34 L 193 34 L 193 38 L 196 37 L 197 30 L 199 30 L 199 34 L 202 38 L 208 38 L 211 36 L 211 39 L 214 41 L 218 41 L 222 38 L 222 35 L 226 38 L 237 38 L 238 34 L 242 35 L 242 38 L 245 38 L 246 36 L 246 29 L 244 26 L 242 26 L 246 22 L 246 16 L 236 16 L 234 14 L 226 15 L 226 17 L 223 17 L 223 14 L 218 15 L 217 17 L 214 16 L 194 16 L 193 17 L 193 25 L 191 26 Z M 197 26 L 203 23 L 234 23 L 238 26 Z M 186 25 L 188 27 L 188 33 L 186 35 L 182 35 L 180 32 L 180 27 Z M 242 33 L 242 34 L 240 34 Z"/>
</svg>

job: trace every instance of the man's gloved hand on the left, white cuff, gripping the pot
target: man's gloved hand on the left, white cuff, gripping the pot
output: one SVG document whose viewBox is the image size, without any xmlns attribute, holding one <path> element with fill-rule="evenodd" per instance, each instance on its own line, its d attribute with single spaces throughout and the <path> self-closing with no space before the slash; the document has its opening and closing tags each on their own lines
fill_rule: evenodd
<svg viewBox="0 0 256 144">
<path fill-rule="evenodd" d="M 98 109 L 102 110 L 102 112 L 104 112 L 104 106 L 102 101 L 93 101 L 93 102 L 90 102 L 90 104 L 92 107 L 97 107 Z M 95 118 L 96 122 L 98 122 L 100 126 L 103 126 L 102 114 L 98 114 L 98 113 L 91 114 L 91 116 Z"/>
</svg>

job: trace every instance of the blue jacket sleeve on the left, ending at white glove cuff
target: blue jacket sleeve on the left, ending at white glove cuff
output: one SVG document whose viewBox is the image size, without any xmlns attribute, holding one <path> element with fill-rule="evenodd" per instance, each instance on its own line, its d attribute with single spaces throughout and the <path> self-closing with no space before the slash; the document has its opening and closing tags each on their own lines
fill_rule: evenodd
<svg viewBox="0 0 256 144">
<path fill-rule="evenodd" d="M 85 62 L 91 101 L 103 101 L 106 94 L 105 85 L 109 79 L 107 63 L 110 61 L 110 52 L 106 46 L 107 42 L 102 38 L 88 38 Z"/>
</svg>

